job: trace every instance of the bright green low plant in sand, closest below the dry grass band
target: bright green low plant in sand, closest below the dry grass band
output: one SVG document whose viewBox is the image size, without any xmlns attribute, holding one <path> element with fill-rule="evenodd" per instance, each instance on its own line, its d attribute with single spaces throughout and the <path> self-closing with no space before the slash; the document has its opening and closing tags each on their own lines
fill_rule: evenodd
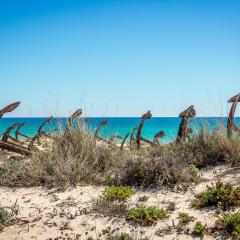
<svg viewBox="0 0 240 240">
<path fill-rule="evenodd" d="M 103 198 L 108 201 L 126 201 L 135 191 L 128 186 L 107 187 L 103 191 Z"/>
</svg>

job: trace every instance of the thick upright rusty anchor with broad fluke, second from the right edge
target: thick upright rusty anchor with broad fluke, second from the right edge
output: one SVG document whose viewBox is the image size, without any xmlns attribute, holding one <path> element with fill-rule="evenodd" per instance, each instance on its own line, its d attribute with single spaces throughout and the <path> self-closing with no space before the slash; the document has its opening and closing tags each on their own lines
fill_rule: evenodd
<svg viewBox="0 0 240 240">
<path fill-rule="evenodd" d="M 188 120 L 189 118 L 194 118 L 195 116 L 196 116 L 196 111 L 193 105 L 191 105 L 189 108 L 187 108 L 185 111 L 179 114 L 179 117 L 182 118 L 182 120 L 178 130 L 178 135 L 176 140 L 177 143 L 186 141 L 188 134 L 192 132 L 192 129 L 188 127 L 189 125 Z"/>
</svg>

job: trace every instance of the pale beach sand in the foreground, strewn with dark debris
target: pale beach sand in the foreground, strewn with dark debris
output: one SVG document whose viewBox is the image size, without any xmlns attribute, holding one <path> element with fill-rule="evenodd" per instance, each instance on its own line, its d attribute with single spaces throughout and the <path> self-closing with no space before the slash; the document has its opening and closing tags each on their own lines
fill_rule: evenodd
<svg viewBox="0 0 240 240">
<path fill-rule="evenodd" d="M 125 219 L 103 217 L 91 211 L 93 200 L 97 199 L 103 187 L 76 187 L 65 192 L 46 190 L 43 188 L 0 188 L 0 205 L 11 206 L 16 200 L 19 214 L 13 225 L 0 233 L 1 240 L 7 239 L 105 239 L 108 233 L 131 233 L 133 236 L 147 236 L 150 239 L 193 239 L 191 234 L 178 234 L 173 224 L 178 224 L 178 213 L 187 212 L 195 219 L 187 228 L 191 229 L 197 221 L 212 227 L 215 223 L 214 209 L 195 210 L 191 208 L 191 200 L 196 192 L 202 191 L 206 185 L 218 179 L 239 185 L 240 170 L 217 167 L 205 171 L 201 182 L 187 192 L 162 190 L 155 193 L 138 192 L 129 200 L 129 206 L 140 204 L 139 196 L 149 199 L 145 205 L 166 207 L 169 202 L 176 204 L 176 210 L 169 218 L 159 220 L 151 227 L 131 225 Z M 162 232 L 162 234 L 161 234 Z M 204 239 L 214 239 L 205 236 Z"/>
</svg>

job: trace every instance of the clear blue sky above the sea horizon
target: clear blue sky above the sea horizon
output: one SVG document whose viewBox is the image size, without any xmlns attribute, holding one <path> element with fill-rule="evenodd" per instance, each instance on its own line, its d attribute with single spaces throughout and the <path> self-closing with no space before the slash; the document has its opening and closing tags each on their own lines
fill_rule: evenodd
<svg viewBox="0 0 240 240">
<path fill-rule="evenodd" d="M 0 0 L 8 116 L 223 116 L 238 92 L 239 0 Z"/>
</svg>

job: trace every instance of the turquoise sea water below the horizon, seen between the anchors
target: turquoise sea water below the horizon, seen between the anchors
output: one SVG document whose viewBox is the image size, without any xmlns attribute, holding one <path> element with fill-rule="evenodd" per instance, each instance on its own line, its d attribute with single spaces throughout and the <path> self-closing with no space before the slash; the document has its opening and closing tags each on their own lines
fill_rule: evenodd
<svg viewBox="0 0 240 240">
<path fill-rule="evenodd" d="M 109 139 L 114 134 L 124 137 L 127 133 L 131 132 L 134 127 L 138 126 L 141 121 L 140 118 L 135 117 L 88 118 L 89 131 L 94 132 L 98 123 L 103 119 L 107 119 L 108 124 L 101 129 L 100 135 L 106 139 Z M 21 122 L 25 123 L 21 128 L 21 132 L 32 137 L 44 120 L 45 118 L 2 118 L 0 119 L 0 134 L 4 133 L 10 125 Z M 153 117 L 145 121 L 142 135 L 152 140 L 158 131 L 163 130 L 166 136 L 163 137 L 161 141 L 164 143 L 170 142 L 177 136 L 180 121 L 181 119 L 177 117 Z M 64 129 L 66 122 L 66 118 L 54 118 L 44 127 L 44 130 L 50 132 L 59 128 L 59 126 Z M 240 119 L 236 118 L 235 122 L 239 124 Z M 227 118 L 224 117 L 195 118 L 191 121 L 190 127 L 192 127 L 193 131 L 196 133 L 203 126 L 212 130 L 219 125 L 226 127 L 226 124 Z M 12 134 L 14 134 L 14 131 Z"/>
</svg>

